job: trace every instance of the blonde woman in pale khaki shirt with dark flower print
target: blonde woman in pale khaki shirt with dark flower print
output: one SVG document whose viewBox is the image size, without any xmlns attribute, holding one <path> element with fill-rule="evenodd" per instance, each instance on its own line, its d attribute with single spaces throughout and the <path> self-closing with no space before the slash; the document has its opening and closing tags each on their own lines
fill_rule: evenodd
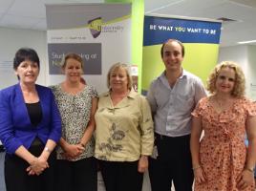
<svg viewBox="0 0 256 191">
<path fill-rule="evenodd" d="M 153 121 L 145 97 L 132 89 L 129 67 L 108 73 L 96 111 L 96 153 L 107 191 L 140 191 L 153 150 Z"/>
</svg>

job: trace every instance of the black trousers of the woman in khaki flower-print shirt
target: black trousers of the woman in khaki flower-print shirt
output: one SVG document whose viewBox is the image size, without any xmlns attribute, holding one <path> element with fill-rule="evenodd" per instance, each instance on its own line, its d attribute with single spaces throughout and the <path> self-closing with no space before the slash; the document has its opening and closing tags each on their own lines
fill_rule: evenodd
<svg viewBox="0 0 256 191">
<path fill-rule="evenodd" d="M 98 160 L 106 191 L 141 191 L 143 174 L 137 161 Z"/>
</svg>

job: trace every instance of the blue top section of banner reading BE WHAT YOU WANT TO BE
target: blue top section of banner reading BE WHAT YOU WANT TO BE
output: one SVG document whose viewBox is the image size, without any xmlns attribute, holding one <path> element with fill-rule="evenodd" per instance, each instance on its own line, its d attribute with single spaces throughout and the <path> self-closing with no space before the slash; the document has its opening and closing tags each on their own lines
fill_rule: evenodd
<svg viewBox="0 0 256 191">
<path fill-rule="evenodd" d="M 219 44 L 221 27 L 221 22 L 145 16 L 143 45 L 158 45 L 170 38 L 182 43 Z"/>
</svg>

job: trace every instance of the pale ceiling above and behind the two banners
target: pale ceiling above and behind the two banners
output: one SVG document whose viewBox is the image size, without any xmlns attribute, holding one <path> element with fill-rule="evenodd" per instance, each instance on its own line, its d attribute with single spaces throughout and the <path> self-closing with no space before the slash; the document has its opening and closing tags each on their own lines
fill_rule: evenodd
<svg viewBox="0 0 256 191">
<path fill-rule="evenodd" d="M 103 3 L 104 0 L 0 1 L 0 27 L 46 31 L 45 4 Z M 224 22 L 221 46 L 256 40 L 256 0 L 145 0 L 145 14 L 218 19 Z M 255 44 L 255 43 L 254 43 Z"/>
</svg>

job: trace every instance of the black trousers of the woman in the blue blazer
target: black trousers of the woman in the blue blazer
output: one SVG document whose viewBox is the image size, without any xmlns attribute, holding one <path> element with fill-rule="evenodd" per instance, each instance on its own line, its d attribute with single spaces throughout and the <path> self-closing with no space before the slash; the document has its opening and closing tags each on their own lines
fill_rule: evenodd
<svg viewBox="0 0 256 191">
<path fill-rule="evenodd" d="M 39 157 L 44 145 L 32 146 L 29 151 Z M 49 168 L 39 176 L 29 176 L 26 169 L 30 164 L 15 155 L 6 154 L 5 181 L 7 191 L 55 191 L 55 152 L 48 159 Z"/>
</svg>

